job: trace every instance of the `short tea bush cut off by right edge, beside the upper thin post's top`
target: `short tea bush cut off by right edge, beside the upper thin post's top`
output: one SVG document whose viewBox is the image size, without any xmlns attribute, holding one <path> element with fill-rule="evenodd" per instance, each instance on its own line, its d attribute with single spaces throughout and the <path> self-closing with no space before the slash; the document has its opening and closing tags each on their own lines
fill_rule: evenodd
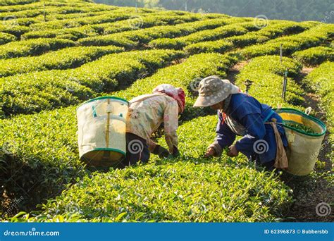
<svg viewBox="0 0 334 241">
<path fill-rule="evenodd" d="M 305 66 L 316 66 L 325 61 L 334 61 L 334 50 L 332 47 L 318 46 L 292 54 L 293 58 Z"/>
</svg>

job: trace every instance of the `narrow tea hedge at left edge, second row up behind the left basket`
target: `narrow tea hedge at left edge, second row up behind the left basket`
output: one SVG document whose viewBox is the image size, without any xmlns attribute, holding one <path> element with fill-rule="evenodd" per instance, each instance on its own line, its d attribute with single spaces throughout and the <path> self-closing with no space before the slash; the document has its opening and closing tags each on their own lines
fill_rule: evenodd
<svg viewBox="0 0 334 241">
<path fill-rule="evenodd" d="M 71 47 L 41 56 L 0 59 L 0 77 L 36 70 L 77 68 L 106 54 L 123 51 L 120 47 Z"/>
</svg>

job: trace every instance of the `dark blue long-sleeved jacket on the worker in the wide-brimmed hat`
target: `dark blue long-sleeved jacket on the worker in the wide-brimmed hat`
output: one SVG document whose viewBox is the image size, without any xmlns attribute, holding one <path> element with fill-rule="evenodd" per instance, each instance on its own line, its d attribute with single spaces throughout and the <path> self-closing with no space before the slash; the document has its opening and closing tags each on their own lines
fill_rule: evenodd
<svg viewBox="0 0 334 241">
<path fill-rule="evenodd" d="M 247 130 L 241 140 L 238 140 L 235 147 L 238 152 L 245 154 L 248 158 L 253 154 L 259 154 L 261 163 L 273 161 L 276 158 L 276 139 L 273 128 L 269 124 L 264 124 L 265 119 L 271 121 L 276 118 L 277 123 L 282 123 L 282 118 L 278 113 L 272 111 L 271 106 L 261 104 L 254 97 L 248 94 L 233 94 L 226 115 L 240 123 Z M 266 122 L 268 122 L 266 121 Z M 285 130 L 282 125 L 277 124 L 278 132 L 282 138 L 283 145 L 287 147 Z M 230 130 L 223 120 L 223 115 L 218 111 L 218 125 L 216 129 L 216 141 L 222 147 L 229 147 L 235 141 L 236 134 Z M 259 141 L 258 141 L 259 140 Z M 258 142 L 256 142 L 258 141 Z M 256 144 L 260 142 L 265 145 L 265 149 L 255 150 Z M 263 153 L 262 153 L 263 152 Z"/>
</svg>

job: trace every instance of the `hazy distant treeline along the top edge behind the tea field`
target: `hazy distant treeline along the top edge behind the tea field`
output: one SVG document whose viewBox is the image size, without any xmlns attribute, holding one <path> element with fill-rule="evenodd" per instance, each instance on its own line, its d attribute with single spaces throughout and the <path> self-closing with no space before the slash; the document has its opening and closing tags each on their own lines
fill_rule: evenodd
<svg viewBox="0 0 334 241">
<path fill-rule="evenodd" d="M 333 0 L 94 0 L 116 6 L 137 6 L 187 10 L 192 12 L 225 13 L 230 16 L 317 20 L 334 23 Z"/>
</svg>

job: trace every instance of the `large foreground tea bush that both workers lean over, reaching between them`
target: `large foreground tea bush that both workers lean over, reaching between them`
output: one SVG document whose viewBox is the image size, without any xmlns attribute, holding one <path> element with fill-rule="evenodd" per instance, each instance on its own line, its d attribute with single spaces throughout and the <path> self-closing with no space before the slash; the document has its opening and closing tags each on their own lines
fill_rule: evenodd
<svg viewBox="0 0 334 241">
<path fill-rule="evenodd" d="M 185 156 L 179 159 L 85 177 L 49 199 L 37 216 L 14 221 L 275 221 L 292 203 L 277 177 L 245 161 L 205 160 L 192 153 L 213 140 L 216 122 L 216 116 L 207 116 L 181 125 Z"/>
</svg>

